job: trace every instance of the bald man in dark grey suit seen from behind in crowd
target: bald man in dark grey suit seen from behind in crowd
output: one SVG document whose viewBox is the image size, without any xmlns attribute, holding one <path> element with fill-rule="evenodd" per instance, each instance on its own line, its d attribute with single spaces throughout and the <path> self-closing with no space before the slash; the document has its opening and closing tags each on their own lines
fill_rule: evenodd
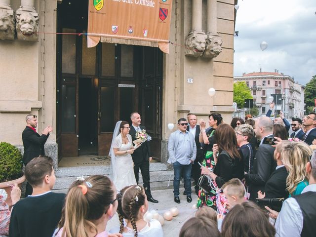
<svg viewBox="0 0 316 237">
<path fill-rule="evenodd" d="M 251 200 L 255 200 L 258 197 L 259 190 L 265 192 L 266 182 L 276 168 L 276 161 L 273 158 L 275 148 L 272 145 L 263 144 L 265 137 L 274 137 L 272 120 L 268 117 L 258 118 L 255 122 L 254 130 L 256 137 L 261 142 L 253 161 L 253 173 L 245 174 Z"/>
</svg>

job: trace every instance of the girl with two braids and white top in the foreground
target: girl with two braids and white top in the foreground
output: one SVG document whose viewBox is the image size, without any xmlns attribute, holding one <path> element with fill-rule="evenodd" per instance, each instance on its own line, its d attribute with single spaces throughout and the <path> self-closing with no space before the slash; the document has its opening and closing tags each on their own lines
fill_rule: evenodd
<svg viewBox="0 0 316 237">
<path fill-rule="evenodd" d="M 110 233 L 119 232 L 123 237 L 163 237 L 158 220 L 152 219 L 150 222 L 144 220 L 148 201 L 143 187 L 126 186 L 117 197 L 119 227 L 113 228 Z"/>
</svg>

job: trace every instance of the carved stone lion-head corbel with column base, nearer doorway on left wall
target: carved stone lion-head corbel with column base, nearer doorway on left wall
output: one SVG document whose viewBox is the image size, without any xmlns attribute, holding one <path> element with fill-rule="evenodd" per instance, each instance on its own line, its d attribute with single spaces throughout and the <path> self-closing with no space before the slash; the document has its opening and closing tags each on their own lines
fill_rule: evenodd
<svg viewBox="0 0 316 237">
<path fill-rule="evenodd" d="M 16 10 L 16 33 L 19 40 L 38 41 L 39 14 L 34 7 L 34 0 L 21 0 Z"/>
</svg>

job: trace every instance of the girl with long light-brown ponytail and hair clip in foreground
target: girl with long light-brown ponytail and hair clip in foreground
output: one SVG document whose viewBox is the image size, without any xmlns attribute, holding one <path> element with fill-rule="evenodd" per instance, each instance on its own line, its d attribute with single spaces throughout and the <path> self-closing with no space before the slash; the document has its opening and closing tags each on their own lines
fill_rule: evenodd
<svg viewBox="0 0 316 237">
<path fill-rule="evenodd" d="M 75 181 L 66 197 L 59 231 L 54 236 L 108 237 L 107 222 L 118 208 L 116 193 L 113 182 L 103 175 Z"/>
</svg>

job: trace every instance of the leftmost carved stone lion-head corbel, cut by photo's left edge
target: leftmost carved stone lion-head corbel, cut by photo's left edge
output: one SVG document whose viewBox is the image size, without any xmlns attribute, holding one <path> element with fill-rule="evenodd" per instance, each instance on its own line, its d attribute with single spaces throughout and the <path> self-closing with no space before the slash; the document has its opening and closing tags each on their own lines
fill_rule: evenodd
<svg viewBox="0 0 316 237">
<path fill-rule="evenodd" d="M 0 40 L 14 40 L 14 12 L 10 0 L 0 0 Z"/>
</svg>

